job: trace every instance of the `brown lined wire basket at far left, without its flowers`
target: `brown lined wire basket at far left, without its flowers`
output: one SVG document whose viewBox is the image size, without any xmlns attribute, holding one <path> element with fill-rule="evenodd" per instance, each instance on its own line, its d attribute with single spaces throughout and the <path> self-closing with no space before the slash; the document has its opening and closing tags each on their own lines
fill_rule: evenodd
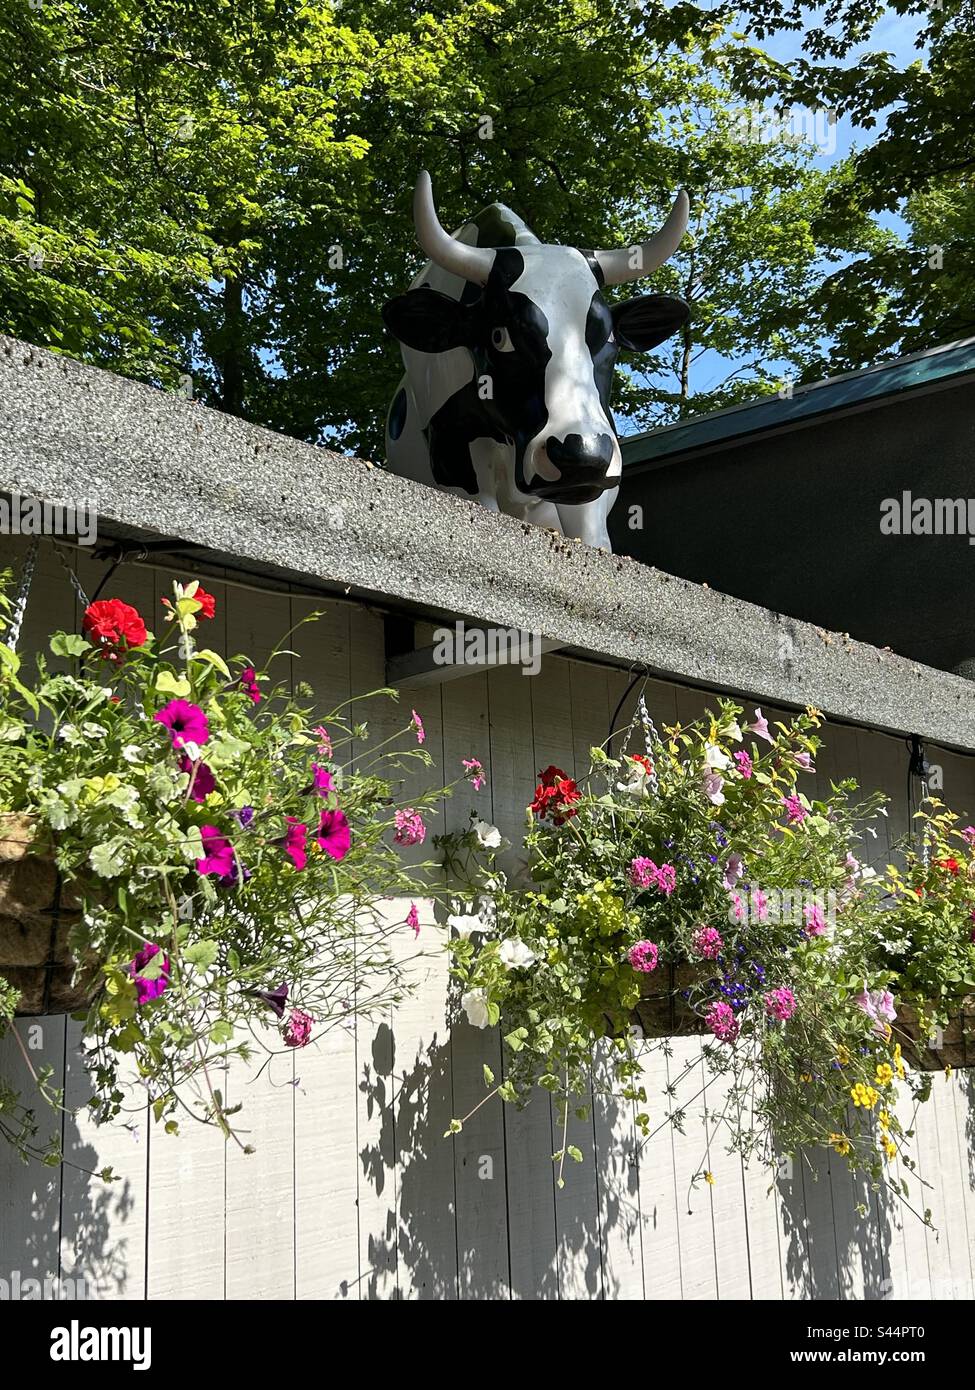
<svg viewBox="0 0 975 1390">
<path fill-rule="evenodd" d="M 78 901 L 29 816 L 0 816 L 0 973 L 21 991 L 17 1015 L 86 1009 L 102 986 L 99 958 L 79 967 L 68 949 Z"/>
</svg>

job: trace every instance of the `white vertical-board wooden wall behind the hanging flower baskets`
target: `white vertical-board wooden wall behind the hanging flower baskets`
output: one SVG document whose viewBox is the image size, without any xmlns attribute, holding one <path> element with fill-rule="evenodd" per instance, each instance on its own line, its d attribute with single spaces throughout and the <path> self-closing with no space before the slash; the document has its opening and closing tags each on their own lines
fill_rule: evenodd
<svg viewBox="0 0 975 1390">
<path fill-rule="evenodd" d="M 7 542 L 3 562 L 21 553 Z M 83 562 L 79 573 L 90 592 L 100 566 Z M 321 606 L 206 587 L 217 596 L 209 645 L 259 659 Z M 104 596 L 136 603 L 159 626 L 168 592 L 170 577 L 127 566 Z M 64 573 L 45 548 L 22 651 L 76 620 Z M 293 676 L 314 687 L 323 710 L 384 684 L 382 621 L 364 606 L 327 603 L 296 648 Z M 626 684 L 618 670 L 547 656 L 531 678 L 501 669 L 408 696 L 402 723 L 416 703 L 445 780 L 470 755 L 488 774 L 480 794 L 465 787 L 446 801 L 446 827 L 466 824 L 477 808 L 516 838 L 537 769 L 558 763 L 583 774 Z M 708 698 L 651 682 L 648 702 L 661 724 L 693 719 Z M 396 723 L 398 714 L 389 727 Z M 907 828 L 907 749 L 853 728 L 829 727 L 825 737 L 822 791 L 830 777 L 853 774 L 892 796 L 889 838 L 876 845 L 886 860 L 890 840 Z M 975 810 L 975 762 L 939 751 L 930 758 L 943 769 L 946 799 Z M 170 1138 L 145 1113 L 132 1129 L 96 1129 L 83 1109 L 64 1123 L 63 1169 L 25 1168 L 0 1150 L 0 1279 L 15 1270 L 21 1279 L 81 1276 L 89 1297 L 102 1298 L 972 1297 L 969 1074 L 936 1076 L 935 1098 L 918 1116 L 919 1176 L 929 1186 L 922 1194 L 912 1180 L 912 1197 L 930 1207 L 936 1233 L 819 1152 L 783 1170 L 769 1191 L 765 1170 L 744 1169 L 712 1144 L 715 1186 L 688 1193 L 704 1155 L 701 1109 L 715 1106 L 719 1083 L 691 1106 L 683 1136 L 662 1129 L 643 1148 L 631 1111 L 597 1098 L 588 1122 L 572 1122 L 570 1143 L 584 1162 L 567 1165 L 559 1190 L 547 1094 L 522 1112 L 485 1105 L 462 1134 L 442 1137 L 451 1116 L 483 1097 L 483 1063 L 499 1073 L 501 1048 L 497 1033 L 449 1027 L 446 960 L 430 913 L 416 945 L 409 929 L 403 935 L 405 951 L 423 949 L 421 984 L 409 1002 L 378 1024 L 332 1033 L 281 1059 L 256 1083 L 231 1069 L 227 1091 L 245 1104 L 253 1155 L 204 1129 Z M 49 1019 L 42 1030 L 35 1066 L 50 1063 L 64 1076 L 68 1104 L 82 1104 L 76 1026 Z M 676 1074 L 697 1051 L 693 1038 L 677 1038 L 669 1061 L 661 1051 L 648 1056 L 658 1113 L 668 1069 Z M 0 1042 L 0 1066 L 26 1084 L 10 1038 Z M 81 1170 L 106 1165 L 121 1175 L 117 1183 Z"/>
</svg>

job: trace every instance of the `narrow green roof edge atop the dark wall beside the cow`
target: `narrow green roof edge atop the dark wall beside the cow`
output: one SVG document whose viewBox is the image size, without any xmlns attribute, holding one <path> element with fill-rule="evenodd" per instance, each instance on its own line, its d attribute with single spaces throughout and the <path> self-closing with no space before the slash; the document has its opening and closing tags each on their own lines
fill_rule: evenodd
<svg viewBox="0 0 975 1390">
<path fill-rule="evenodd" d="M 809 386 L 797 386 L 791 396 L 762 396 L 741 406 L 716 410 L 697 420 L 682 420 L 645 434 L 620 439 L 623 467 L 631 471 L 640 464 L 654 464 L 677 455 L 695 453 L 729 439 L 782 430 L 803 420 L 868 404 L 885 396 L 930 389 L 939 384 L 975 374 L 975 338 L 929 348 L 910 357 L 865 367 L 841 377 L 829 377 Z"/>
</svg>

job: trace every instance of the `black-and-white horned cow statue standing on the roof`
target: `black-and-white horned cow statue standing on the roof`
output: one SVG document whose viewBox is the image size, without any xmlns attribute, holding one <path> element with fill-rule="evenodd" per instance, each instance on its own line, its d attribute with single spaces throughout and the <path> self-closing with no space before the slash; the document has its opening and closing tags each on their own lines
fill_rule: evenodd
<svg viewBox="0 0 975 1390">
<path fill-rule="evenodd" d="M 382 307 L 406 366 L 387 421 L 389 468 L 611 549 L 622 473 L 609 411 L 616 353 L 656 348 L 690 310 L 673 295 L 609 306 L 602 288 L 673 254 L 687 195 L 641 246 L 588 252 L 542 245 L 501 203 L 449 236 L 424 170 L 413 221 L 430 260 Z"/>
</svg>

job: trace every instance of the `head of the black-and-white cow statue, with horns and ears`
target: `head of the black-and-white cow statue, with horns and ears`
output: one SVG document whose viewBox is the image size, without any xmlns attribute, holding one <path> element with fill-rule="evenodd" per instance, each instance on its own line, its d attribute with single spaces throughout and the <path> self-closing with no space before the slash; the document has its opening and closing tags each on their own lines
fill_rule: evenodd
<svg viewBox="0 0 975 1390">
<path fill-rule="evenodd" d="M 417 352 L 470 350 L 477 379 L 490 384 L 478 395 L 478 416 L 485 432 L 515 446 L 519 492 L 576 505 L 618 486 L 622 460 L 609 411 L 616 354 L 656 348 L 686 322 L 688 309 L 672 295 L 609 306 L 602 288 L 648 275 L 676 250 L 687 195 L 677 195 L 643 246 L 606 252 L 456 240 L 440 224 L 426 171 L 413 215 L 431 261 L 466 285 L 459 299 L 421 286 L 389 300 L 382 309 L 389 331 Z"/>
</svg>

